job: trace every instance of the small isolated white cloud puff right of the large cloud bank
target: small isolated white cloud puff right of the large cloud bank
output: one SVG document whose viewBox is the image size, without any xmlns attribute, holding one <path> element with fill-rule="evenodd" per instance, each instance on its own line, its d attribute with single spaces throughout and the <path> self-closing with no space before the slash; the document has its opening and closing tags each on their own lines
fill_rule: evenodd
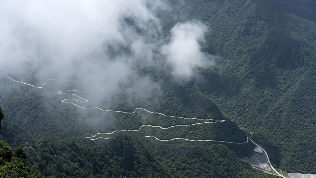
<svg viewBox="0 0 316 178">
<path fill-rule="evenodd" d="M 172 67 L 172 74 L 179 79 L 188 79 L 196 67 L 214 65 L 213 56 L 201 52 L 200 42 L 204 41 L 207 27 L 201 22 L 177 23 L 171 29 L 169 44 L 161 49 Z"/>
</svg>

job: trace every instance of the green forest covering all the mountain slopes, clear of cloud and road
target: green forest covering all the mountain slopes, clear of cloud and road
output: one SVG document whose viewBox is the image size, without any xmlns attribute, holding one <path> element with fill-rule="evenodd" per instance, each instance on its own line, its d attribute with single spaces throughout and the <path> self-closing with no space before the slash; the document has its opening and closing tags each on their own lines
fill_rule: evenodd
<svg viewBox="0 0 316 178">
<path fill-rule="evenodd" d="M 91 143 L 78 137 L 138 129 L 142 124 L 169 127 L 192 121 L 143 111 L 124 114 L 80 110 L 61 103 L 63 97 L 54 85 L 35 89 L 0 79 L 0 101 L 6 115 L 1 139 L 13 147 L 31 145 L 33 149 L 27 149 L 29 163 L 43 176 L 270 176 L 237 159 L 251 152 L 250 143 L 223 146 L 143 138 L 150 135 L 243 142 L 246 134 L 240 126 L 264 145 L 277 167 L 286 172 L 316 174 L 315 0 L 166 2 L 172 10 L 157 12 L 163 25 L 161 36 L 170 35 L 170 29 L 179 21 L 202 21 L 209 29 L 202 50 L 220 56 L 217 65 L 198 69 L 198 77 L 184 84 L 175 82 L 168 68 L 135 67 L 140 75 L 159 83 L 159 101 L 127 98 L 127 87 L 123 86 L 121 92 L 102 104 L 111 110 L 133 112 L 141 107 L 166 115 L 225 122 L 166 131 L 146 127 L 140 132 L 124 132 L 126 135 L 113 134 L 113 140 Z M 75 83 L 66 86 L 82 87 Z M 121 102 L 127 100 L 131 102 Z M 0 110 L 0 121 L 3 117 Z M 38 141 L 40 138 L 44 139 Z"/>
</svg>

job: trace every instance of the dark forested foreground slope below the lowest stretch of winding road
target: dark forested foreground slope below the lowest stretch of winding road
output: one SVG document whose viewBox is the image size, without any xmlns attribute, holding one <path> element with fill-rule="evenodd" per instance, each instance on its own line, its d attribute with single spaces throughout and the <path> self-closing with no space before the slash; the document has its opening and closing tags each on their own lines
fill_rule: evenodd
<svg viewBox="0 0 316 178">
<path fill-rule="evenodd" d="M 40 140 L 27 150 L 33 169 L 58 178 L 267 178 L 224 145 L 160 144 L 117 134 L 92 142 Z M 84 144 L 83 144 L 84 143 Z"/>
</svg>

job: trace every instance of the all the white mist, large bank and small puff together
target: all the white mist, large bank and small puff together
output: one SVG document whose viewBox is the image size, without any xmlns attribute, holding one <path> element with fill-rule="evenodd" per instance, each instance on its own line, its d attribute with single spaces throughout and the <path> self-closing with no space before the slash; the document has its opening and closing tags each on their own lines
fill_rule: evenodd
<svg viewBox="0 0 316 178">
<path fill-rule="evenodd" d="M 214 56 L 200 49 L 208 27 L 199 21 L 179 22 L 164 37 L 158 11 L 172 9 L 162 0 L 2 1 L 0 74 L 36 86 L 47 79 L 65 80 L 49 85 L 80 90 L 58 97 L 89 98 L 89 103 L 79 102 L 84 107 L 159 108 L 161 84 L 141 69 L 168 69 L 183 83 L 197 68 L 214 65 Z M 71 87 L 68 80 L 112 89 Z"/>
</svg>

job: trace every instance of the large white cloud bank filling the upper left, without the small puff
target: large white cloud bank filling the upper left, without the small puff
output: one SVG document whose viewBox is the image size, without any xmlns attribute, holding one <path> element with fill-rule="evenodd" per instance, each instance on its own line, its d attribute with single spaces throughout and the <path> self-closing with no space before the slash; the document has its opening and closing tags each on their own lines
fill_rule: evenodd
<svg viewBox="0 0 316 178">
<path fill-rule="evenodd" d="M 152 49 L 160 31 L 154 12 L 165 8 L 160 0 L 0 0 L 0 4 L 0 77 L 39 82 L 75 78 L 114 88 L 107 96 L 93 97 L 96 106 L 123 89 L 127 98 L 142 103 L 159 94 L 159 85 L 133 67 L 135 62 L 154 61 Z M 120 102 L 126 100 L 116 100 Z"/>
</svg>

